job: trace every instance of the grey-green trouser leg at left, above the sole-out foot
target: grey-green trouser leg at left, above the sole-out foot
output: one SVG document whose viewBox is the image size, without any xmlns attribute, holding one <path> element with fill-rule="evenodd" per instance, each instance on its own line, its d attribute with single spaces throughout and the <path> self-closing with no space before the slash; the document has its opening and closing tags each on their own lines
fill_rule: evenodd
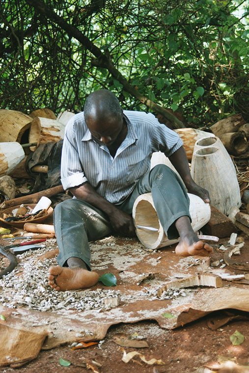
<svg viewBox="0 0 249 373">
<path fill-rule="evenodd" d="M 56 205 L 54 225 L 60 266 L 66 266 L 67 259 L 76 257 L 91 269 L 88 241 L 99 240 L 111 233 L 107 215 L 79 199 L 68 199 Z"/>
</svg>

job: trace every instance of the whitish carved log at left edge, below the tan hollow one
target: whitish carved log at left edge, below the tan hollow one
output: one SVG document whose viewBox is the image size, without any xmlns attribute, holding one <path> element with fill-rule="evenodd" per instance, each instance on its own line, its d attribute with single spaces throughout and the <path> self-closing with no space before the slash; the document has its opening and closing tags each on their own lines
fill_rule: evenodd
<svg viewBox="0 0 249 373">
<path fill-rule="evenodd" d="M 0 142 L 0 176 L 9 174 L 25 157 L 19 142 Z"/>
</svg>

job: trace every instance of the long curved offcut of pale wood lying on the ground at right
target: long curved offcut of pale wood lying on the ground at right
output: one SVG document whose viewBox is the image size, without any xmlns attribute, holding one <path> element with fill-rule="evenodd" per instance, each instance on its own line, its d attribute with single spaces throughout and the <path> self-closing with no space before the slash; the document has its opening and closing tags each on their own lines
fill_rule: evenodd
<svg viewBox="0 0 249 373">
<path fill-rule="evenodd" d="M 157 294 L 161 296 L 164 292 L 167 292 L 169 289 L 182 289 L 182 288 L 191 288 L 193 286 L 212 286 L 214 288 L 222 287 L 222 280 L 220 276 L 203 273 L 196 276 L 190 276 L 182 280 L 175 280 L 168 282 L 165 286 L 158 289 Z"/>
</svg>

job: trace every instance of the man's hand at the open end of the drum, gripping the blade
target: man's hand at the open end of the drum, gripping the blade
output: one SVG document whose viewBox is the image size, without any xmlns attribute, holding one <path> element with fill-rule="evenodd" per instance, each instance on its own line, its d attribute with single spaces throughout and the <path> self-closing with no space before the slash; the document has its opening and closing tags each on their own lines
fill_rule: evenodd
<svg viewBox="0 0 249 373">
<path fill-rule="evenodd" d="M 136 236 L 133 218 L 128 213 L 124 213 L 113 206 L 112 213 L 109 214 L 109 219 L 114 231 L 128 237 Z"/>
</svg>

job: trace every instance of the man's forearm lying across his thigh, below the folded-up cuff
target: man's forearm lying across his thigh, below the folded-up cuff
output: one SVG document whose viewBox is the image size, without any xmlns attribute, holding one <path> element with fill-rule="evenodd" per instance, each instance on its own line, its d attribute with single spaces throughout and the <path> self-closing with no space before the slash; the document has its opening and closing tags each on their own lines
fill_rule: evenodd
<svg viewBox="0 0 249 373">
<path fill-rule="evenodd" d="M 97 207 L 107 215 L 110 215 L 113 212 L 113 209 L 115 209 L 115 206 L 105 198 L 101 197 L 87 182 L 79 187 L 70 188 L 70 191 L 76 198 Z"/>
</svg>

